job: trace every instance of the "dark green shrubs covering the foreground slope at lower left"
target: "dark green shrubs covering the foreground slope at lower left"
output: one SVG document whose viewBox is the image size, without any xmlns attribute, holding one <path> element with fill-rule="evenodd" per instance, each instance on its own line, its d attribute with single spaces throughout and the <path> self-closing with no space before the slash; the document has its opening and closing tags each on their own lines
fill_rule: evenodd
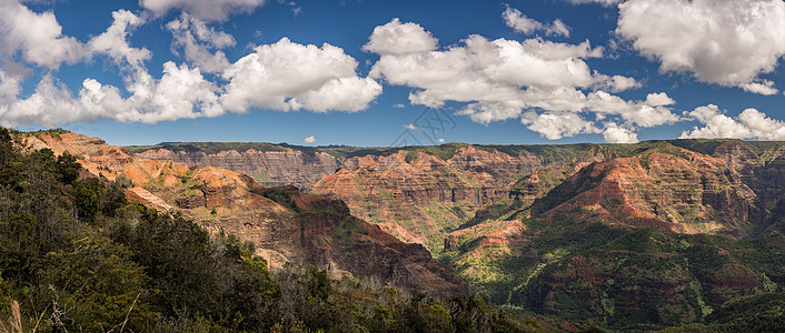
<svg viewBox="0 0 785 333">
<path fill-rule="evenodd" d="M 477 297 L 336 281 L 316 268 L 270 273 L 252 243 L 129 204 L 125 181 L 79 179 L 72 157 L 23 153 L 11 140 L 0 129 L 2 332 L 538 330 Z"/>
</svg>

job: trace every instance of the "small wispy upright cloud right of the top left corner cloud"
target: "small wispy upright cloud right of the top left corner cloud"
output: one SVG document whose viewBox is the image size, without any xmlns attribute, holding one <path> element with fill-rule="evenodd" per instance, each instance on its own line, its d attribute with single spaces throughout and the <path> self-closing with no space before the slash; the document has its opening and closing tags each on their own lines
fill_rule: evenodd
<svg viewBox="0 0 785 333">
<path fill-rule="evenodd" d="M 90 39 L 88 46 L 95 52 L 107 54 L 118 64 L 127 63 L 133 69 L 142 68 L 152 53 L 145 48 L 131 48 L 128 36 L 130 29 L 143 24 L 146 20 L 123 9 L 112 12 L 112 24 L 107 31 Z"/>
</svg>

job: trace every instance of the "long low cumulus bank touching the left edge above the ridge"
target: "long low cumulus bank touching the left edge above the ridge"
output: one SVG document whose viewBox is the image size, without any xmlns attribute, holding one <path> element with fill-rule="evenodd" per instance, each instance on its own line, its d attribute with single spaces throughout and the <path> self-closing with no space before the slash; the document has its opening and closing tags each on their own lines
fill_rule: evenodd
<svg viewBox="0 0 785 333">
<path fill-rule="evenodd" d="M 0 123 L 6 127 L 58 127 L 100 119 L 157 123 L 223 113 L 216 88 L 201 77 L 198 69 L 167 62 L 160 79 L 153 79 L 147 72 L 137 75 L 128 88 L 132 94 L 126 99 L 118 88 L 102 85 L 93 79 L 86 79 L 79 95 L 74 97 L 48 74 L 30 97 L 0 105 Z"/>
</svg>

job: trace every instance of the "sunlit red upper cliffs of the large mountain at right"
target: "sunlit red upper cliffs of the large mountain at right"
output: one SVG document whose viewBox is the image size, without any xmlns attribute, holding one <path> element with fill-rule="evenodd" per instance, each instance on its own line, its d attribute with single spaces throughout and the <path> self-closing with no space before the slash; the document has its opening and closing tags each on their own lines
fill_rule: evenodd
<svg viewBox="0 0 785 333">
<path fill-rule="evenodd" d="M 470 223 L 448 234 L 445 244 L 461 249 L 464 258 L 510 255 L 513 248 L 527 244 L 523 231 L 531 220 L 734 239 L 772 232 L 785 194 L 781 154 L 774 151 L 765 162 L 737 142 L 714 151 L 706 155 L 663 143 L 626 158 L 584 161 L 573 169 L 538 169 L 514 184 L 508 196 L 484 206 Z M 477 275 L 475 268 L 465 269 L 465 278 Z"/>
</svg>

